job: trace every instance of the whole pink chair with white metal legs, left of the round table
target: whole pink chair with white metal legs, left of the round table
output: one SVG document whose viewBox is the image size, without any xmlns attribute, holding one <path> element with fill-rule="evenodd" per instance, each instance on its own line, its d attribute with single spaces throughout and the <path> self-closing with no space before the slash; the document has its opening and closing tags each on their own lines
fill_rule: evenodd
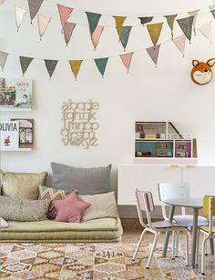
<svg viewBox="0 0 215 280">
<path fill-rule="evenodd" d="M 160 221 L 160 222 L 152 222 L 151 221 L 151 215 L 150 213 L 155 210 L 155 205 L 153 202 L 153 197 L 150 192 L 143 192 L 136 190 L 135 192 L 136 196 L 136 203 L 137 203 L 137 209 L 138 209 L 138 218 L 140 224 L 144 227 L 144 230 L 142 234 L 139 237 L 138 245 L 136 247 L 135 253 L 132 257 L 133 260 L 136 259 L 136 256 L 138 255 L 138 249 L 141 245 L 141 242 L 143 240 L 143 236 L 149 232 L 155 235 L 154 242 L 150 251 L 150 255 L 148 257 L 148 263 L 146 268 L 149 268 L 152 256 L 154 254 L 159 234 L 160 233 L 166 233 L 166 232 L 174 232 L 176 230 L 179 230 L 183 232 L 186 235 L 186 266 L 189 265 L 189 230 L 186 227 L 183 227 L 181 225 L 177 225 L 176 223 L 170 223 L 169 221 Z M 143 221 L 142 211 L 144 211 L 147 215 L 148 224 L 145 224 Z"/>
</svg>

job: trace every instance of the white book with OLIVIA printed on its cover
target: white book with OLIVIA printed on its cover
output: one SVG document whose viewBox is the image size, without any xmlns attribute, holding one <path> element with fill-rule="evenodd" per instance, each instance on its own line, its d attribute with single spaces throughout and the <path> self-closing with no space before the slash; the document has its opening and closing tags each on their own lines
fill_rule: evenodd
<svg viewBox="0 0 215 280">
<path fill-rule="evenodd" d="M 5 121 L 0 123 L 1 150 L 15 150 L 19 147 L 19 122 Z"/>
</svg>

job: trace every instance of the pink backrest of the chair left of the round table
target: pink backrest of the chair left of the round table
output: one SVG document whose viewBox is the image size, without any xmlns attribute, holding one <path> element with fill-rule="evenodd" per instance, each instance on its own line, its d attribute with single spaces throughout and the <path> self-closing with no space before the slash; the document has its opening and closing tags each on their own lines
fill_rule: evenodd
<svg viewBox="0 0 215 280">
<path fill-rule="evenodd" d="M 150 192 L 145 192 L 145 191 L 135 191 L 135 196 L 136 196 L 136 202 L 137 202 L 137 209 L 138 209 L 138 218 L 139 222 L 143 226 L 151 226 L 151 217 L 150 217 L 150 212 L 155 210 L 155 205 L 153 202 L 153 196 Z M 146 212 L 147 219 L 148 219 L 148 225 L 146 225 L 143 222 L 143 216 L 142 216 L 142 211 Z"/>
</svg>

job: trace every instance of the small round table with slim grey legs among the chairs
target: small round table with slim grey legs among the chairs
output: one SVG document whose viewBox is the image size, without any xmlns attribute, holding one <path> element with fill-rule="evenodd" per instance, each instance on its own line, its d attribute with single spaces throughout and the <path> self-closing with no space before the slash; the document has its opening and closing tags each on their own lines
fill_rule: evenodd
<svg viewBox="0 0 215 280">
<path fill-rule="evenodd" d="M 192 222 L 192 247 L 191 247 L 191 265 L 195 268 L 195 255 L 197 249 L 197 227 L 199 210 L 203 208 L 203 198 L 200 197 L 185 197 L 185 198 L 172 198 L 164 201 L 165 204 L 170 205 L 169 222 L 172 222 L 175 207 L 189 207 L 193 209 L 193 222 Z M 165 243 L 163 247 L 163 257 L 167 255 L 167 248 L 169 244 L 169 232 L 166 234 Z"/>
</svg>

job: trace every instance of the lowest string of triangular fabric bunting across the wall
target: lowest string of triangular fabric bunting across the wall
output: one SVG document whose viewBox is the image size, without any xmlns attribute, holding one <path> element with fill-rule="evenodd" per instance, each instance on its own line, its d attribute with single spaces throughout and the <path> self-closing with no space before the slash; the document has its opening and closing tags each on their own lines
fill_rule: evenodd
<svg viewBox="0 0 215 280">
<path fill-rule="evenodd" d="M 1 0 L 0 0 L 1 1 Z M 206 38 L 208 38 L 211 42 L 211 21 L 207 24 L 201 25 L 200 27 L 197 28 L 202 35 L 204 35 Z M 178 37 L 172 38 L 172 40 L 168 40 L 167 42 L 162 43 L 168 43 L 168 42 L 173 42 L 174 45 L 179 49 L 180 53 L 184 56 L 185 52 L 185 45 L 186 45 L 186 38 L 188 36 L 186 35 L 179 35 Z M 138 51 L 133 51 L 130 53 L 126 53 L 123 55 L 115 55 L 115 56 L 108 56 L 108 57 L 99 57 L 99 58 L 94 58 L 94 59 L 76 59 L 76 60 L 56 60 L 56 59 L 46 59 L 46 58 L 36 58 L 36 57 L 28 57 L 28 56 L 23 56 L 23 55 L 15 55 L 19 56 L 19 62 L 21 66 L 21 70 L 23 75 L 26 74 L 26 70 L 28 69 L 29 65 L 32 63 L 33 60 L 35 59 L 42 59 L 45 62 L 46 65 L 46 70 L 47 73 L 51 79 L 52 75 L 54 74 L 54 71 L 56 69 L 56 65 L 58 61 L 67 61 L 69 64 L 71 71 L 73 72 L 75 76 L 75 80 L 77 80 L 77 75 L 80 70 L 80 66 L 84 61 L 92 60 L 95 62 L 97 65 L 97 70 L 99 73 L 102 75 L 102 77 L 105 75 L 106 67 L 107 67 L 107 61 L 111 57 L 120 57 L 123 65 L 127 68 L 127 71 L 129 71 L 129 67 L 131 65 L 131 60 L 133 58 L 134 53 L 138 53 L 140 51 L 146 50 L 149 57 L 157 67 L 158 64 L 158 59 L 159 59 L 159 50 L 160 50 L 160 45 L 157 45 L 158 42 L 158 37 L 155 35 L 152 39 L 153 41 L 153 46 L 150 46 L 146 49 L 141 49 Z M 7 60 L 8 55 L 13 55 L 5 52 L 0 52 L 0 67 L 2 68 L 2 71 L 4 71 L 5 63 Z"/>
</svg>

